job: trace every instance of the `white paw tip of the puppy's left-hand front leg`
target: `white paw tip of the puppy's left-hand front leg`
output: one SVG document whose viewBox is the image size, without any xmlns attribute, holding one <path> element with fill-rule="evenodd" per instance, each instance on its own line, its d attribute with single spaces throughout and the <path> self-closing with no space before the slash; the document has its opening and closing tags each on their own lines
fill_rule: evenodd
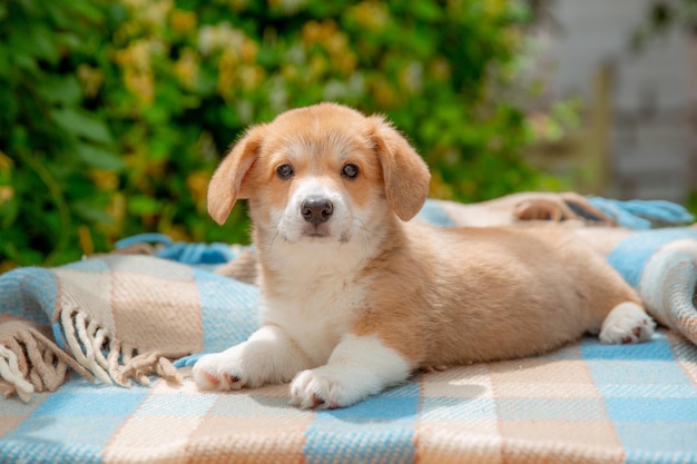
<svg viewBox="0 0 697 464">
<path fill-rule="evenodd" d="M 198 388 L 228 391 L 251 386 L 249 374 L 242 369 L 240 351 L 235 348 L 204 355 L 196 362 L 192 374 Z"/>
</svg>

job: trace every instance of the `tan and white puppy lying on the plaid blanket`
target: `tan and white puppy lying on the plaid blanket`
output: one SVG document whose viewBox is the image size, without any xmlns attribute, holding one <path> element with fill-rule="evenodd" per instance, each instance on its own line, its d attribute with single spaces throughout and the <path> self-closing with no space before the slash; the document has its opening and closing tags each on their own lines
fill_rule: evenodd
<svg viewBox="0 0 697 464">
<path fill-rule="evenodd" d="M 252 127 L 215 171 L 223 224 L 248 199 L 262 327 L 203 356 L 202 389 L 291 382 L 343 407 L 418 368 L 531 356 L 586 332 L 650 338 L 635 292 L 571 231 L 435 228 L 412 219 L 426 165 L 382 117 L 321 103 Z"/>
</svg>

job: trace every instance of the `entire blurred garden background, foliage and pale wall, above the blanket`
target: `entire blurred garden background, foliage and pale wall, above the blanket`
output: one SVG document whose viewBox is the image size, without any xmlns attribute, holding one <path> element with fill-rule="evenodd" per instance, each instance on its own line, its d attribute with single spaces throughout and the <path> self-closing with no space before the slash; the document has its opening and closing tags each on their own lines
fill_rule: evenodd
<svg viewBox="0 0 697 464">
<path fill-rule="evenodd" d="M 0 272 L 143 231 L 246 243 L 208 178 L 255 122 L 387 116 L 431 196 L 523 190 L 697 211 L 697 0 L 6 0 Z"/>
</svg>

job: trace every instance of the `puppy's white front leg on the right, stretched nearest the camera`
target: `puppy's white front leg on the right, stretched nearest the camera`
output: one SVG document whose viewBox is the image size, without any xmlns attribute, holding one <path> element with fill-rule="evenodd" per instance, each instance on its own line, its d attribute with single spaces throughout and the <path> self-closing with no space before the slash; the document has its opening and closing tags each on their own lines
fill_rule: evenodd
<svg viewBox="0 0 697 464">
<path fill-rule="evenodd" d="M 377 336 L 345 335 L 326 365 L 301 372 L 291 384 L 291 404 L 303 408 L 350 406 L 403 382 L 412 368 Z"/>
</svg>

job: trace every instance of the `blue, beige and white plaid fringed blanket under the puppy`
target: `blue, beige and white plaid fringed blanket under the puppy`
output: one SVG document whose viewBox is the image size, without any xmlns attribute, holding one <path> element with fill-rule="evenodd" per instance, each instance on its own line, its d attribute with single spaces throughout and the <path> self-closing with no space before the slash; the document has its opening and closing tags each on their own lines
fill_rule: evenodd
<svg viewBox="0 0 697 464">
<path fill-rule="evenodd" d="M 285 385 L 196 389 L 197 355 L 256 328 L 255 286 L 154 256 L 7 273 L 0 387 L 28 402 L 0 403 L 0 461 L 695 462 L 697 229 L 593 234 L 670 329 L 420 373 L 338 411 L 289 407 Z"/>
</svg>

